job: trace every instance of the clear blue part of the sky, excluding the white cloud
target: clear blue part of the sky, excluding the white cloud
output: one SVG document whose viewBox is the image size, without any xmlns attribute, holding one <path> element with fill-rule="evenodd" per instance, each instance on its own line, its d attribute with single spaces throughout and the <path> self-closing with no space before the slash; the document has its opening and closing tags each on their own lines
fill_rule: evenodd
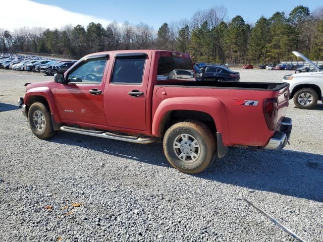
<svg viewBox="0 0 323 242">
<path fill-rule="evenodd" d="M 63 9 L 91 15 L 108 21 L 116 20 L 120 23 L 129 21 L 132 24 L 140 22 L 147 23 L 157 29 L 164 22 L 178 21 L 181 19 L 190 19 L 198 9 L 207 9 L 213 6 L 223 5 L 228 10 L 228 17 L 231 19 L 236 15 L 241 15 L 247 23 L 254 23 L 263 15 L 270 17 L 277 11 L 285 11 L 286 14 L 297 5 L 309 7 L 311 11 L 323 6 L 323 1 L 183 1 L 183 0 L 143 0 L 143 1 L 66 1 L 66 0 L 33 0 L 37 3 L 51 4 Z"/>
</svg>

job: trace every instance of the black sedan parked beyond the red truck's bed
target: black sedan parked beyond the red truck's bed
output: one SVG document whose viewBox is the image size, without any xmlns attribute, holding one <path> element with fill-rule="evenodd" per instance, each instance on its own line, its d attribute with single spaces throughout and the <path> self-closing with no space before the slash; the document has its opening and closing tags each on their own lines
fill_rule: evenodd
<svg viewBox="0 0 323 242">
<path fill-rule="evenodd" d="M 240 73 L 234 72 L 230 69 L 220 67 L 220 66 L 207 66 L 202 68 L 203 72 L 202 81 L 233 81 L 237 82 L 240 80 Z"/>
</svg>

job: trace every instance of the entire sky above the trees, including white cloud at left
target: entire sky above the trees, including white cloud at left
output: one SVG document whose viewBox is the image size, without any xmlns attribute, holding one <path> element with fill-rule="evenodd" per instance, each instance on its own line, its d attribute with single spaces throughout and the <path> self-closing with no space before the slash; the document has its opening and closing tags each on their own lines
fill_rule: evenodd
<svg viewBox="0 0 323 242">
<path fill-rule="evenodd" d="M 86 27 L 90 22 L 101 23 L 106 27 L 112 21 L 119 24 L 128 21 L 131 24 L 143 22 L 155 30 L 165 22 L 190 20 L 198 10 L 223 6 L 227 9 L 228 19 L 241 15 L 248 24 L 255 23 L 261 15 L 270 18 L 275 12 L 286 15 L 302 5 L 303 0 L 14 0 L 2 1 L 0 29 L 15 30 L 21 27 L 42 27 L 60 29 L 71 24 Z M 322 0 L 312 0 L 303 4 L 310 11 L 323 7 Z"/>
</svg>

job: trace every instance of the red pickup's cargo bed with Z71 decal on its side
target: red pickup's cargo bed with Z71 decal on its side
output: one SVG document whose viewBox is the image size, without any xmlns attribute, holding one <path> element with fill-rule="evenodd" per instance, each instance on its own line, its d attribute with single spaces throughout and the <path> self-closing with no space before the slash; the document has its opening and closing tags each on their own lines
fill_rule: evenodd
<svg viewBox="0 0 323 242">
<path fill-rule="evenodd" d="M 173 110 L 209 113 L 227 146 L 265 146 L 275 133 L 266 124 L 265 100 L 277 99 L 277 129 L 289 103 L 289 84 L 285 82 L 176 82 L 155 85 L 154 93 L 153 115 L 168 103 Z"/>
</svg>

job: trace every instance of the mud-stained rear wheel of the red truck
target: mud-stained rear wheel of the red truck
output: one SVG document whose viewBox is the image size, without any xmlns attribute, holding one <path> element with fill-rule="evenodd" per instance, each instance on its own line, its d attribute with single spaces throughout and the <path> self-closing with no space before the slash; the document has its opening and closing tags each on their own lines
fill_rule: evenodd
<svg viewBox="0 0 323 242">
<path fill-rule="evenodd" d="M 181 135 L 189 135 L 186 139 L 187 143 L 191 143 L 186 144 L 185 140 L 181 138 Z M 179 148 L 175 148 L 175 141 L 177 141 L 178 137 L 182 141 L 181 143 L 177 142 L 177 147 Z M 196 144 L 195 141 L 198 143 Z M 182 147 L 182 143 L 183 145 L 185 143 L 185 147 Z M 193 148 L 193 144 L 198 145 L 198 148 Z M 190 120 L 171 126 L 164 136 L 163 147 L 167 160 L 174 168 L 184 173 L 195 174 L 205 170 L 213 160 L 214 152 L 216 151 L 216 139 L 204 123 Z M 181 149 L 185 150 L 185 153 L 186 151 L 191 151 L 192 153 L 189 154 L 189 157 L 186 154 L 185 157 L 182 156 L 182 159 L 185 159 L 182 160 L 180 158 L 183 154 Z M 194 157 L 194 152 L 197 154 L 196 157 Z M 186 160 L 186 158 L 191 160 Z"/>
</svg>

